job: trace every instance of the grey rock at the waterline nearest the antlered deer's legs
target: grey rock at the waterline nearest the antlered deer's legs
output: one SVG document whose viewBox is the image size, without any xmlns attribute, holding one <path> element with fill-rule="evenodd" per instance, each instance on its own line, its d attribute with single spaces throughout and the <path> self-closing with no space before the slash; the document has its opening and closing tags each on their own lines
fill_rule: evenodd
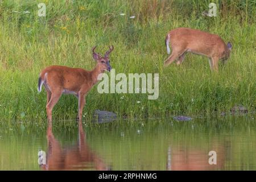
<svg viewBox="0 0 256 182">
<path fill-rule="evenodd" d="M 117 118 L 117 114 L 105 110 L 95 110 L 93 118 L 93 122 L 107 123 L 114 121 Z"/>
</svg>

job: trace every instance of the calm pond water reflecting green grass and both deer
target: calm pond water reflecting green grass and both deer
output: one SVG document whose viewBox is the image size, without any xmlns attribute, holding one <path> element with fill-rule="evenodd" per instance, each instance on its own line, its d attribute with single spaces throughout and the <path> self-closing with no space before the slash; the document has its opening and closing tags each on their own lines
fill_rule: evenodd
<svg viewBox="0 0 256 182">
<path fill-rule="evenodd" d="M 0 122 L 0 169 L 256 170 L 255 115 L 192 121 Z M 38 152 L 42 150 L 39 161 Z M 217 164 L 209 164 L 215 151 Z M 46 165 L 44 163 L 46 154 Z M 213 161 L 213 160 L 210 160 Z"/>
</svg>

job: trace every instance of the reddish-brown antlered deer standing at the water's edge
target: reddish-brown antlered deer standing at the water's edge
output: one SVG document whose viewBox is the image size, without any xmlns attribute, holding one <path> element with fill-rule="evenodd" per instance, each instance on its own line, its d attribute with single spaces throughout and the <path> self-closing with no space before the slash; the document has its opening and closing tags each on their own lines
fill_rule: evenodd
<svg viewBox="0 0 256 182">
<path fill-rule="evenodd" d="M 61 94 L 74 94 L 79 100 L 79 122 L 82 121 L 82 109 L 85 105 L 85 96 L 97 83 L 97 77 L 104 71 L 112 69 L 110 66 L 109 54 L 114 47 L 109 47 L 103 56 L 94 52 L 96 46 L 92 48 L 93 59 L 97 61 L 96 67 L 92 71 L 81 68 L 69 68 L 53 65 L 43 69 L 39 75 L 38 92 L 41 92 L 42 85 L 47 92 L 46 112 L 48 121 L 52 121 L 52 109 L 59 100 Z"/>
</svg>

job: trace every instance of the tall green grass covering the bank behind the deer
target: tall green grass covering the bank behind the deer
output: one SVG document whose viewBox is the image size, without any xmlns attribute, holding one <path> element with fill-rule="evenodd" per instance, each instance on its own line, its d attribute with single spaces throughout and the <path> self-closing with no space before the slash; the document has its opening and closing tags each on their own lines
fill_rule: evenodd
<svg viewBox="0 0 256 182">
<path fill-rule="evenodd" d="M 46 93 L 37 92 L 40 71 L 53 64 L 92 69 L 91 48 L 97 45 L 104 53 L 111 44 L 116 73 L 159 73 L 159 98 L 124 94 L 122 100 L 123 94 L 99 94 L 96 85 L 86 97 L 85 118 L 95 109 L 128 118 L 210 115 L 236 104 L 255 111 L 255 1 L 216 1 L 214 18 L 201 15 L 210 1 L 44 1 L 46 17 L 38 16 L 40 2 L 0 3 L 0 118 L 46 119 Z M 181 66 L 163 68 L 164 38 L 176 27 L 197 28 L 232 42 L 228 63 L 213 73 L 206 57 L 188 55 Z M 53 109 L 58 119 L 76 114 L 77 100 L 70 95 Z"/>
</svg>

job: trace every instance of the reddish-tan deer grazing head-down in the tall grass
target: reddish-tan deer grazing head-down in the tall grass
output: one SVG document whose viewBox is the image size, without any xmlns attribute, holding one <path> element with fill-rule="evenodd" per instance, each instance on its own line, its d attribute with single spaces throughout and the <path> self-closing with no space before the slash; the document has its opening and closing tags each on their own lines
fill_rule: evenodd
<svg viewBox="0 0 256 182">
<path fill-rule="evenodd" d="M 186 53 L 192 52 L 207 56 L 210 69 L 218 71 L 218 60 L 225 63 L 232 49 L 232 44 L 228 42 L 226 45 L 220 36 L 191 28 L 176 28 L 168 33 L 166 36 L 168 54 L 171 53 L 169 42 L 171 42 L 172 54 L 164 61 L 164 66 L 171 64 L 176 59 L 178 59 L 177 65 L 180 65 Z"/>
</svg>

